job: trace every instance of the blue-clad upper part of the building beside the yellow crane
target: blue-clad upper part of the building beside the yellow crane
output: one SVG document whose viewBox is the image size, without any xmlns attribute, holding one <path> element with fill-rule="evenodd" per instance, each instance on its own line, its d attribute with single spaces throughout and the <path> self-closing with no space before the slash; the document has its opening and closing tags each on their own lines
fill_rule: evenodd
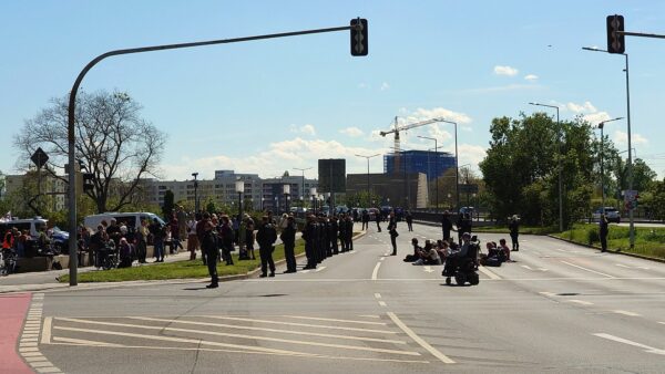
<svg viewBox="0 0 665 374">
<path fill-rule="evenodd" d="M 431 150 L 402 150 L 400 152 L 399 170 L 396 170 L 395 155 L 383 155 L 383 173 L 423 173 L 428 180 L 443 176 L 443 174 L 454 168 L 454 156 L 448 152 Z"/>
</svg>

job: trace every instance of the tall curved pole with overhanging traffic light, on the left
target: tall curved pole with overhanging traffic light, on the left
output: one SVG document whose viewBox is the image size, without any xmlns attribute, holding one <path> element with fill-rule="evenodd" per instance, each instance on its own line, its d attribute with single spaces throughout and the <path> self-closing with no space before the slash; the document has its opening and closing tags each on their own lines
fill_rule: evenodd
<svg viewBox="0 0 665 374">
<path fill-rule="evenodd" d="M 76 256 L 76 176 L 74 173 L 74 163 L 76 162 L 75 157 L 75 127 L 74 127 L 74 118 L 76 112 L 76 93 L 79 92 L 79 86 L 85 77 L 85 74 L 99 62 L 102 60 L 121 54 L 133 54 L 133 53 L 143 53 L 143 52 L 154 52 L 154 51 L 165 51 L 165 50 L 176 50 L 184 48 L 195 48 L 195 46 L 205 46 L 205 45 L 214 45 L 214 44 L 228 44 L 228 43 L 238 43 L 238 42 L 248 42 L 253 40 L 263 40 L 263 39 L 276 39 L 276 38 L 285 38 L 285 37 L 297 37 L 297 35 L 306 35 L 306 34 L 316 34 L 324 32 L 336 32 L 336 31 L 345 31 L 351 30 L 351 54 L 352 55 L 366 55 L 367 54 L 367 21 L 361 19 L 351 20 L 350 25 L 339 27 L 339 28 L 328 28 L 328 29 L 315 29 L 315 30 L 303 30 L 303 31 L 294 31 L 294 32 L 282 32 L 275 34 L 265 34 L 265 35 L 255 35 L 255 37 L 244 37 L 244 38 L 234 38 L 234 39 L 219 39 L 219 40 L 209 40 L 203 42 L 193 42 L 193 43 L 180 43 L 180 44 L 164 44 L 164 45 L 153 45 L 153 46 L 142 46 L 142 48 L 132 48 L 125 50 L 115 50 L 109 51 L 106 53 L 100 54 L 90 61 L 85 67 L 79 73 L 76 80 L 74 81 L 74 85 L 72 86 L 72 91 L 70 92 L 69 97 L 69 113 L 68 113 L 68 158 L 69 158 L 69 227 L 74 235 L 70 237 L 69 240 L 69 276 L 70 276 L 70 285 L 78 284 L 78 256 Z M 354 35 L 362 33 L 362 37 Z M 361 46 L 355 45 L 358 43 L 362 43 Z M 362 48 L 365 46 L 365 48 Z"/>
</svg>

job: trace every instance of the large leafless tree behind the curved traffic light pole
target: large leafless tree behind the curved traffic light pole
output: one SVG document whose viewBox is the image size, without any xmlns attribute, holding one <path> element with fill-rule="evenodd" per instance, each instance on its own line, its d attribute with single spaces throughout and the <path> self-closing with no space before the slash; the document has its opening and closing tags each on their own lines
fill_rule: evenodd
<svg viewBox="0 0 665 374">
<path fill-rule="evenodd" d="M 50 157 L 45 169 L 66 181 L 62 172 L 68 157 L 68 103 L 69 96 L 53 98 L 50 107 L 27 120 L 14 135 L 19 169 L 28 169 L 30 155 L 42 147 Z M 157 176 L 166 135 L 143 120 L 141 110 L 123 92 L 76 96 L 76 159 L 94 175 L 94 188 L 86 195 L 99 212 L 131 204 L 140 180 Z"/>
</svg>

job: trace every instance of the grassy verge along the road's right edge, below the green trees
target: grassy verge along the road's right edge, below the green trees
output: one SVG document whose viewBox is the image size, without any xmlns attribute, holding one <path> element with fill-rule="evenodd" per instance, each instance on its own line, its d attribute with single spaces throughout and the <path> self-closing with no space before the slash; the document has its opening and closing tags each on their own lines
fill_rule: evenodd
<svg viewBox="0 0 665 374">
<path fill-rule="evenodd" d="M 628 235 L 627 227 L 610 225 L 607 249 L 665 259 L 665 228 L 635 227 L 633 249 L 630 248 Z M 582 245 L 601 247 L 597 224 L 575 224 L 571 230 L 554 236 Z"/>
</svg>

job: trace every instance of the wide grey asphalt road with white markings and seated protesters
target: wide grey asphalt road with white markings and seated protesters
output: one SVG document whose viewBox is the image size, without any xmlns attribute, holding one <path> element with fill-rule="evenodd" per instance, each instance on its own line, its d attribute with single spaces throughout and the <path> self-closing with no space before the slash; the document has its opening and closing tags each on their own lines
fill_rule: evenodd
<svg viewBox="0 0 665 374">
<path fill-rule="evenodd" d="M 33 294 L 42 372 L 662 373 L 665 264 L 521 237 L 516 262 L 448 287 L 375 227 L 317 271 Z M 498 241 L 500 235 L 480 239 Z M 303 262 L 303 260 L 300 260 Z M 37 305 L 37 307 L 35 307 Z M 37 328 L 34 325 L 37 324 Z M 33 336 L 34 333 L 30 336 Z"/>
</svg>

